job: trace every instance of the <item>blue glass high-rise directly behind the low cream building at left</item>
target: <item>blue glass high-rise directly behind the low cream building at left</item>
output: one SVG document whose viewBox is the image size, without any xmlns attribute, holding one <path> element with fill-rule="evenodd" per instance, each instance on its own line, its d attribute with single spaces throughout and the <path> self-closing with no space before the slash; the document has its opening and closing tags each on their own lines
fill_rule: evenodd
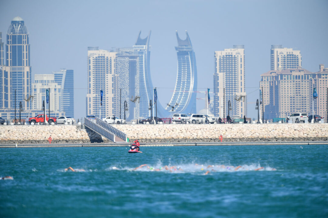
<svg viewBox="0 0 328 218">
<path fill-rule="evenodd" d="M 59 111 L 74 117 L 74 71 L 62 69 L 53 71 L 54 82 L 60 88 Z"/>
</svg>

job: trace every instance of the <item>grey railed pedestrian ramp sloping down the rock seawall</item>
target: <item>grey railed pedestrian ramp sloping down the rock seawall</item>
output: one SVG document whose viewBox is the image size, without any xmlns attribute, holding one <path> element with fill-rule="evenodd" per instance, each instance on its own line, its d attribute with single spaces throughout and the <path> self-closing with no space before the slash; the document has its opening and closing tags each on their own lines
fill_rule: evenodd
<svg viewBox="0 0 328 218">
<path fill-rule="evenodd" d="M 84 125 L 112 142 L 127 142 L 127 136 L 124 132 L 102 121 L 98 117 L 93 118 L 93 120 L 85 117 Z"/>
</svg>

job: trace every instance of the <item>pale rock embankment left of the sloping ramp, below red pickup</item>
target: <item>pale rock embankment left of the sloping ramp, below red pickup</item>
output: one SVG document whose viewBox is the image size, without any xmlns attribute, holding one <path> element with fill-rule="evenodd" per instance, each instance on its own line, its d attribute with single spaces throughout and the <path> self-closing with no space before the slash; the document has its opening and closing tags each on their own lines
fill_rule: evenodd
<svg viewBox="0 0 328 218">
<path fill-rule="evenodd" d="M 0 126 L 0 144 L 49 144 L 108 142 L 91 131 L 74 125 Z"/>
</svg>

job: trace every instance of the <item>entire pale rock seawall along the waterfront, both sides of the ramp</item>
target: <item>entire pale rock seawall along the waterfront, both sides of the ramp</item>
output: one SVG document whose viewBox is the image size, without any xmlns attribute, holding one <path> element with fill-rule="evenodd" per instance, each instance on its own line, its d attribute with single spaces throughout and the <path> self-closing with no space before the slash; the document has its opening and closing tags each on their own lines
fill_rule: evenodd
<svg viewBox="0 0 328 218">
<path fill-rule="evenodd" d="M 328 124 L 171 124 L 115 125 L 130 142 L 292 142 L 328 141 Z M 0 144 L 109 143 L 80 126 L 0 126 Z"/>
</svg>

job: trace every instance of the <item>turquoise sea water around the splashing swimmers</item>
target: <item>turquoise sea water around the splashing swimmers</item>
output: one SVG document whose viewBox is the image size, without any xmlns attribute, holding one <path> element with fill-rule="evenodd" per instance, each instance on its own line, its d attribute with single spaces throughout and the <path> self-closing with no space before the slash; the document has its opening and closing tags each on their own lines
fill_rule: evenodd
<svg viewBox="0 0 328 218">
<path fill-rule="evenodd" d="M 328 217 L 328 145 L 302 147 L 2 148 L 0 217 Z"/>
</svg>

